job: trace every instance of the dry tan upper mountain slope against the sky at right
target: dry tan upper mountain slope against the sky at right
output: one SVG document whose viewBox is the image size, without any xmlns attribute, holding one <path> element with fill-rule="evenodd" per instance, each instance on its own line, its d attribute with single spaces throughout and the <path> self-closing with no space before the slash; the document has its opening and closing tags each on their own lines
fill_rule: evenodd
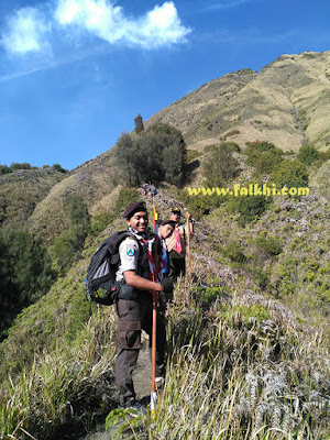
<svg viewBox="0 0 330 440">
<path fill-rule="evenodd" d="M 330 52 L 283 55 L 260 74 L 239 70 L 215 79 L 153 116 L 183 131 L 190 148 L 220 136 L 267 141 L 284 151 L 329 145 Z"/>
</svg>

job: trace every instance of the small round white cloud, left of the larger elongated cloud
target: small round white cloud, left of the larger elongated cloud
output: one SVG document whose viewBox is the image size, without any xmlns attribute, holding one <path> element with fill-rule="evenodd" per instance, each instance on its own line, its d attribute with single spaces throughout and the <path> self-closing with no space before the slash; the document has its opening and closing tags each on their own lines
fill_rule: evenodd
<svg viewBox="0 0 330 440">
<path fill-rule="evenodd" d="M 8 21 L 8 31 L 1 43 L 8 52 L 26 54 L 48 47 L 45 40 L 48 25 L 35 8 L 20 9 Z"/>
</svg>

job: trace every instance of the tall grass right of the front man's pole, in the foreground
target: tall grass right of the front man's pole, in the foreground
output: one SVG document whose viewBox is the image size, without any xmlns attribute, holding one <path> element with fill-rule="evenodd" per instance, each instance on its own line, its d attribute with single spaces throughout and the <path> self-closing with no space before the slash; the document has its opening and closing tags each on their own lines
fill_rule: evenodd
<svg viewBox="0 0 330 440">
<path fill-rule="evenodd" d="M 155 419 L 141 420 L 139 439 L 330 438 L 322 332 L 286 321 L 271 301 L 261 312 L 234 297 L 223 300 L 219 289 L 205 309 L 188 293 L 182 279 L 168 314 L 165 386 Z"/>
</svg>

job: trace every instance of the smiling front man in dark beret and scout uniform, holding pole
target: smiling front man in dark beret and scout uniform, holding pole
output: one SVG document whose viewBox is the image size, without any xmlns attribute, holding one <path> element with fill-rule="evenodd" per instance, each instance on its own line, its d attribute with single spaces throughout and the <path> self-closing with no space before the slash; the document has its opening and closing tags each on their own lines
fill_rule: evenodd
<svg viewBox="0 0 330 440">
<path fill-rule="evenodd" d="M 147 237 L 148 216 L 145 204 L 136 201 L 124 210 L 128 231 L 132 237 L 125 238 L 119 246 L 120 263 L 116 274 L 117 282 L 123 283 L 120 289 L 116 309 L 118 321 L 118 353 L 116 359 L 116 383 L 119 389 L 119 405 L 122 408 L 141 409 L 135 399 L 132 373 L 138 362 L 141 349 L 141 330 L 150 336 L 152 346 L 153 304 L 152 294 L 168 292 L 170 286 L 166 279 L 162 284 L 151 280 L 150 261 L 155 254 L 151 251 L 151 241 L 155 235 Z M 168 279 L 167 279 L 168 282 Z M 156 384 L 165 377 L 164 352 L 166 332 L 164 319 L 160 314 L 156 318 Z"/>
</svg>

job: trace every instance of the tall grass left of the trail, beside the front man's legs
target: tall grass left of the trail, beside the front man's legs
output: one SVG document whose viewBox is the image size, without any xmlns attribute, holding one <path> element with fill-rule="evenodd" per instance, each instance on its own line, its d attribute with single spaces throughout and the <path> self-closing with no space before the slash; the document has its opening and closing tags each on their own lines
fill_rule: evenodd
<svg viewBox="0 0 330 440">
<path fill-rule="evenodd" d="M 1 439 L 1 433 L 4 439 L 52 437 L 58 425 L 78 417 L 81 408 L 76 403 L 111 371 L 116 353 L 113 318 L 96 310 L 74 346 L 45 349 L 30 369 L 9 376 L 0 394 Z"/>
</svg>

